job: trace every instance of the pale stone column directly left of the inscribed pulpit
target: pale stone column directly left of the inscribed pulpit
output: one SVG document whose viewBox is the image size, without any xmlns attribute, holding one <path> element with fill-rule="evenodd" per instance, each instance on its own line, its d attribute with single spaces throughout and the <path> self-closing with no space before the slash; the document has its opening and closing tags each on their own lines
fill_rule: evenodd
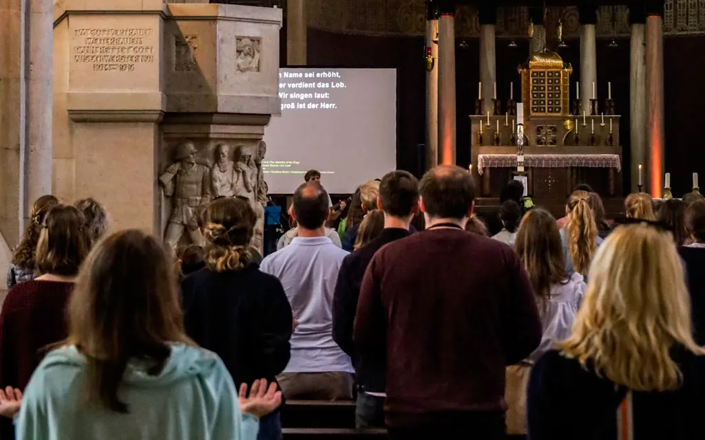
<svg viewBox="0 0 705 440">
<path fill-rule="evenodd" d="M 51 194 L 51 115 L 54 92 L 54 1 L 29 2 L 29 32 L 25 43 L 27 118 L 23 216 L 30 218 L 32 203 Z"/>
</svg>

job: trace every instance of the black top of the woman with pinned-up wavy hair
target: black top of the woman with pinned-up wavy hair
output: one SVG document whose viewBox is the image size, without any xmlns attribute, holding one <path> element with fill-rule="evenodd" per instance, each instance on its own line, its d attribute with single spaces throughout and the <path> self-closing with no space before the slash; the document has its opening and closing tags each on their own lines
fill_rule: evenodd
<svg viewBox="0 0 705 440">
<path fill-rule="evenodd" d="M 214 351 L 233 382 L 275 380 L 289 362 L 291 307 L 276 277 L 257 265 L 239 272 L 202 269 L 181 282 L 186 334 Z"/>
</svg>

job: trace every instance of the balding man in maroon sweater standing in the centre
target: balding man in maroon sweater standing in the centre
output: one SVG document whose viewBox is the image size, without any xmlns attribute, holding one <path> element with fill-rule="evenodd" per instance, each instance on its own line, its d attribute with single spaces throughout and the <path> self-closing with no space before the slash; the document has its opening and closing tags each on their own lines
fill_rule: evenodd
<svg viewBox="0 0 705 440">
<path fill-rule="evenodd" d="M 503 439 L 505 367 L 541 341 L 531 284 L 513 249 L 465 232 L 474 207 L 467 171 L 434 168 L 419 193 L 427 230 L 372 258 L 355 342 L 386 341 L 391 438 Z"/>
</svg>

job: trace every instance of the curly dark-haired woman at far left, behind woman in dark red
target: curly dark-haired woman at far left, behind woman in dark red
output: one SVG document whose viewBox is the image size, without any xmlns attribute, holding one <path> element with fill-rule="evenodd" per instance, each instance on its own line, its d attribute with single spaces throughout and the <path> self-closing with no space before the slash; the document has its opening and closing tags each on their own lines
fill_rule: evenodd
<svg viewBox="0 0 705 440">
<path fill-rule="evenodd" d="M 25 230 L 22 241 L 15 249 L 12 256 L 12 264 L 7 272 L 8 289 L 11 289 L 18 282 L 29 281 L 39 275 L 35 264 L 35 249 L 37 249 L 37 241 L 39 241 L 39 232 L 42 232 L 44 217 L 46 217 L 51 208 L 58 204 L 59 199 L 51 195 L 41 196 L 32 204 L 30 224 Z"/>
</svg>

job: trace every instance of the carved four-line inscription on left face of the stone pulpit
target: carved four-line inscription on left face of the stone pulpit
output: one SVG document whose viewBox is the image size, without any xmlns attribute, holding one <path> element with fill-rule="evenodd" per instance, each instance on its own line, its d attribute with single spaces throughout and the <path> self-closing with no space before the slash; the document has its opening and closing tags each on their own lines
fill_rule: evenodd
<svg viewBox="0 0 705 440">
<path fill-rule="evenodd" d="M 149 28 L 77 29 L 73 37 L 73 61 L 92 65 L 94 72 L 132 72 L 137 64 L 154 63 Z"/>
</svg>

